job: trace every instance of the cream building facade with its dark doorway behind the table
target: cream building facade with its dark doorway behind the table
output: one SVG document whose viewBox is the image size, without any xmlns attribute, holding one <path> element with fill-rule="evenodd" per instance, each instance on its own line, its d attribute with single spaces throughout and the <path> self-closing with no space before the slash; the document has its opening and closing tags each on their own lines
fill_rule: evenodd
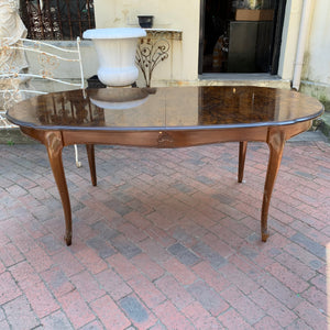
<svg viewBox="0 0 330 330">
<path fill-rule="evenodd" d="M 323 102 L 330 100 L 329 0 L 81 2 L 92 9 L 96 28 L 135 28 L 138 15 L 154 16 L 148 34 L 165 40 L 162 46 L 167 53 L 153 70 L 152 86 L 249 84 L 290 88 L 294 85 Z M 239 18 L 238 9 L 246 3 L 271 15 Z M 75 46 L 74 41 L 52 43 Z M 89 78 L 98 68 L 91 41 L 82 41 L 81 54 L 85 77 Z M 62 78 L 75 75 L 66 68 Z M 138 85 L 145 85 L 142 74 Z"/>
</svg>

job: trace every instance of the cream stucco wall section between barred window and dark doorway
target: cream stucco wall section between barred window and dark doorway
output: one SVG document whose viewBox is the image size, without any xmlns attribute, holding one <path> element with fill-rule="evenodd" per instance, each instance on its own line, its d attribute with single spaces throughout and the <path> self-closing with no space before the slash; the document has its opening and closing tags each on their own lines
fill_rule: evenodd
<svg viewBox="0 0 330 330">
<path fill-rule="evenodd" d="M 139 26 L 138 15 L 154 15 L 154 29 L 183 31 L 173 41 L 170 57 L 161 63 L 153 80 L 197 80 L 199 0 L 95 0 L 97 28 Z"/>
</svg>

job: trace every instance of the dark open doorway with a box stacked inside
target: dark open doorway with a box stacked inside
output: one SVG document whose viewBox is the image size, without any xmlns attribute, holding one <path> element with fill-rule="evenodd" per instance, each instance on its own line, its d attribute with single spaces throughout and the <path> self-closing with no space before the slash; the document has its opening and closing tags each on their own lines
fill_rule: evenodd
<svg viewBox="0 0 330 330">
<path fill-rule="evenodd" d="M 286 0 L 201 0 L 199 74 L 277 74 Z"/>
</svg>

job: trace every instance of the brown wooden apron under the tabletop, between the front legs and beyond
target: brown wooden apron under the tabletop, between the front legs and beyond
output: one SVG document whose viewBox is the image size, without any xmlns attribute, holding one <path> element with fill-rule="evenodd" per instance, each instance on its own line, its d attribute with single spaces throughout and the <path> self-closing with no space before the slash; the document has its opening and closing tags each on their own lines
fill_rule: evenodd
<svg viewBox="0 0 330 330">
<path fill-rule="evenodd" d="M 288 125 L 270 125 L 212 130 L 160 130 L 160 131 L 107 131 L 107 130 L 42 130 L 21 127 L 26 135 L 46 144 L 45 136 L 52 131 L 62 134 L 63 146 L 73 144 L 112 144 L 142 147 L 185 147 L 220 142 L 268 142 L 270 132 L 284 132 L 285 140 L 307 131 L 311 120 Z"/>
</svg>

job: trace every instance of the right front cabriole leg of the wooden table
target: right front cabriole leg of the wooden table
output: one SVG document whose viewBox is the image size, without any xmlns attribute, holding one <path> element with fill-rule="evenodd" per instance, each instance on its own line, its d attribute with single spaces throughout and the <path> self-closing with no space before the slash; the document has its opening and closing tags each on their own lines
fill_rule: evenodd
<svg viewBox="0 0 330 330">
<path fill-rule="evenodd" d="M 270 158 L 261 216 L 261 235 L 263 242 L 266 242 L 270 237 L 267 230 L 268 210 L 274 184 L 279 169 L 283 150 L 285 145 L 285 132 L 277 129 L 270 129 L 267 144 L 270 147 Z"/>
</svg>

